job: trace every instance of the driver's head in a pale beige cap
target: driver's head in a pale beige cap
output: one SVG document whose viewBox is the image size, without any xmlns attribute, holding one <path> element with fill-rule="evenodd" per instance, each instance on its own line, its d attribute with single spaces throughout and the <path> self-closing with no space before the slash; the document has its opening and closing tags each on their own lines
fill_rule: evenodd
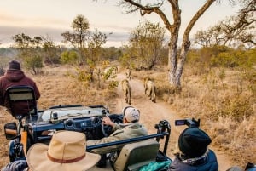
<svg viewBox="0 0 256 171">
<path fill-rule="evenodd" d="M 140 111 L 132 106 L 127 106 L 123 109 L 124 123 L 137 123 L 140 120 Z"/>
</svg>

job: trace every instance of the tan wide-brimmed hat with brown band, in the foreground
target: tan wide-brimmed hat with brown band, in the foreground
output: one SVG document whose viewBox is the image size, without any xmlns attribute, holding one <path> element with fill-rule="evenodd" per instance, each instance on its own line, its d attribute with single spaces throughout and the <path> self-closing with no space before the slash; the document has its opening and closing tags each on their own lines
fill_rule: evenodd
<svg viewBox="0 0 256 171">
<path fill-rule="evenodd" d="M 100 160 L 100 155 L 86 152 L 85 134 L 56 131 L 49 145 L 37 143 L 27 151 L 29 170 L 88 170 Z"/>
</svg>

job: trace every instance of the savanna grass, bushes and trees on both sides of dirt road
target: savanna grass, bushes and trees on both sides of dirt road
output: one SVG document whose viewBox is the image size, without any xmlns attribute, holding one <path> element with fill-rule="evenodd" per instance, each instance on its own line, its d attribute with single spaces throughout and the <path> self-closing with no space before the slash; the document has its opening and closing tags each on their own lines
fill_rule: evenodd
<svg viewBox="0 0 256 171">
<path fill-rule="evenodd" d="M 147 4 L 123 1 L 127 12 L 139 10 L 142 15 L 156 13 L 171 34 L 165 41 L 166 29 L 160 24 L 142 22 L 131 31 L 128 45 L 103 48 L 108 35 L 90 31 L 89 21 L 78 14 L 72 22 L 73 31 L 61 34 L 67 47 L 60 47 L 50 37 L 14 35 L 14 48 L 0 49 L 0 71 L 10 59 L 17 59 L 42 92 L 40 107 L 58 104 L 103 104 L 110 106 L 116 96 L 116 66 L 133 69 L 133 77 L 152 77 L 157 99 L 165 100 L 183 117 L 207 121 L 202 128 L 212 143 L 244 167 L 256 161 L 256 47 L 255 2 L 241 0 L 236 19 L 229 18 L 208 31 L 199 31 L 194 41 L 189 32 L 195 21 L 215 2 L 208 0 L 195 14 L 177 46 L 180 12 L 177 1 L 168 1 L 174 23 L 161 11 L 164 1 Z M 235 1 L 234 1 L 235 2 Z M 190 44 L 200 48 L 190 48 Z M 174 86 L 173 86 L 174 85 Z M 178 91 L 177 91 L 178 90 Z M 90 98 L 93 97 L 93 98 Z M 3 124 L 13 120 L 1 107 L 1 158 L 8 162 L 7 140 Z M 0 164 L 0 165 L 1 165 Z"/>
</svg>

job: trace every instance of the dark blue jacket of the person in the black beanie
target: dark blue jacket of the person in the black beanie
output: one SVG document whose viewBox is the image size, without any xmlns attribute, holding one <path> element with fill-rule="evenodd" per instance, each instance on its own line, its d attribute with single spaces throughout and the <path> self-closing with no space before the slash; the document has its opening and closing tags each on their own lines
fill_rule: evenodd
<svg viewBox="0 0 256 171">
<path fill-rule="evenodd" d="M 168 171 L 218 171 L 217 157 L 213 151 L 208 150 L 203 162 L 199 164 L 189 165 L 176 157 L 171 163 Z"/>
</svg>

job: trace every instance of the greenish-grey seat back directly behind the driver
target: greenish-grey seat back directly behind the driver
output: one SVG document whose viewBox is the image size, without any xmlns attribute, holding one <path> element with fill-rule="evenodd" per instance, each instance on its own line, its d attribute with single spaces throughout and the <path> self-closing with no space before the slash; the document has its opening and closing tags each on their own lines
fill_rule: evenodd
<svg viewBox="0 0 256 171">
<path fill-rule="evenodd" d="M 115 171 L 137 170 L 156 159 L 160 144 L 156 140 L 143 140 L 125 145 L 113 163 Z"/>
</svg>

